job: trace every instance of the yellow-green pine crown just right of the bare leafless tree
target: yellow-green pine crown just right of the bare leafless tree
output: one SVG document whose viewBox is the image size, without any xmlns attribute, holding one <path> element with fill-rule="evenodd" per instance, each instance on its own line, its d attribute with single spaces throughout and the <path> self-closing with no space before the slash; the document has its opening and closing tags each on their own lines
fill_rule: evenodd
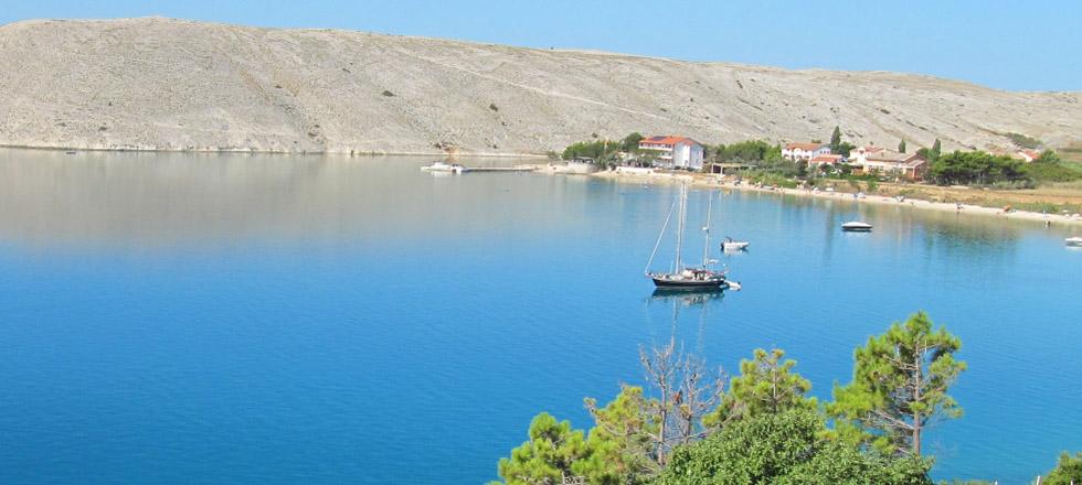
<svg viewBox="0 0 1082 485">
<path fill-rule="evenodd" d="M 724 423 L 776 414 L 791 409 L 814 411 L 815 398 L 808 398 L 811 382 L 793 371 L 796 360 L 784 359 L 785 351 L 767 353 L 756 348 L 754 358 L 740 362 L 740 376 L 733 377 L 721 406 L 703 422 L 711 428 Z"/>
</svg>

